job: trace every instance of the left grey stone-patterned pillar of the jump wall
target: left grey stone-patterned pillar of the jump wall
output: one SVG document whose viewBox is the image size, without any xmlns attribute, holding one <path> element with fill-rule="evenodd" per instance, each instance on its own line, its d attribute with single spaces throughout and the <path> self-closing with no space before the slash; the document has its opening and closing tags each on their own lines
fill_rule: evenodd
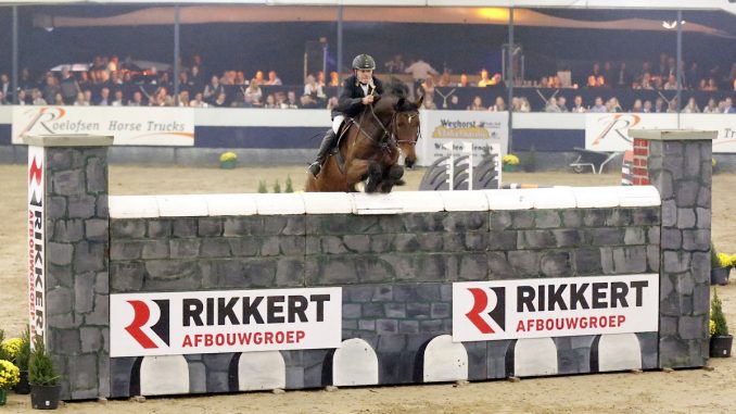
<svg viewBox="0 0 736 414">
<path fill-rule="evenodd" d="M 62 399 L 107 396 L 107 149 L 48 147 L 46 168 L 46 343 Z"/>
</svg>

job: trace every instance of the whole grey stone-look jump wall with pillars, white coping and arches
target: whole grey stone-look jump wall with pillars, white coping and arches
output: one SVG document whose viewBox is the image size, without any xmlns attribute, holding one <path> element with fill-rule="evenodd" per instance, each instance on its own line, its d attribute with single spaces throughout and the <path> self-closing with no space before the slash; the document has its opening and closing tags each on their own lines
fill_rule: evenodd
<svg viewBox="0 0 736 414">
<path fill-rule="evenodd" d="M 650 185 L 384 196 L 109 198 L 104 148 L 31 139 L 63 398 L 702 366 L 714 134 L 643 134 Z M 659 331 L 452 341 L 454 283 L 640 274 Z M 110 357 L 110 294 L 315 287 L 342 288 L 337 350 Z"/>
</svg>

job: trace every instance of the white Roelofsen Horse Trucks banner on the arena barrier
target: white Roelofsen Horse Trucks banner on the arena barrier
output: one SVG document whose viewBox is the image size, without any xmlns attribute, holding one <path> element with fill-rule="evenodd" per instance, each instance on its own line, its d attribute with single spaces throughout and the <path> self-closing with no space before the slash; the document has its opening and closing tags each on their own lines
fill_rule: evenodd
<svg viewBox="0 0 736 414">
<path fill-rule="evenodd" d="M 13 106 L 13 143 L 25 135 L 114 136 L 116 146 L 194 145 L 191 108 Z"/>
</svg>

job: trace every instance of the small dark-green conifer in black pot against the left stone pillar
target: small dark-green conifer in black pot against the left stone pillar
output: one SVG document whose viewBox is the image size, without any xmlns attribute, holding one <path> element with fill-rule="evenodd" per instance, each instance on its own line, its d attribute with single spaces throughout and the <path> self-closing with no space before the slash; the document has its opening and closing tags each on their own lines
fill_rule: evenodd
<svg viewBox="0 0 736 414">
<path fill-rule="evenodd" d="M 30 405 L 37 410 L 56 410 L 61 391 L 61 377 L 56 374 L 51 355 L 46 352 L 43 340 L 36 337 L 28 360 Z"/>
</svg>

